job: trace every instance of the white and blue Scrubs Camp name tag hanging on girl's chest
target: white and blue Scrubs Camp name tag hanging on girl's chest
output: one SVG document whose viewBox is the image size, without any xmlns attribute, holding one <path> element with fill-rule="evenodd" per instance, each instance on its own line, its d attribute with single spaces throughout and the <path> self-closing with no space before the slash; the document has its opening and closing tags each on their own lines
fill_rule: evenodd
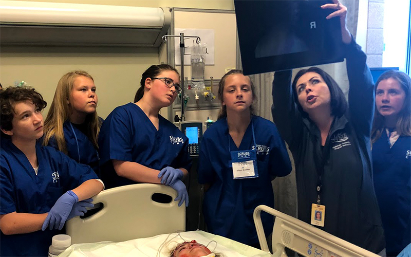
<svg viewBox="0 0 411 257">
<path fill-rule="evenodd" d="M 233 151 L 230 154 L 234 179 L 258 177 L 255 150 Z"/>
</svg>

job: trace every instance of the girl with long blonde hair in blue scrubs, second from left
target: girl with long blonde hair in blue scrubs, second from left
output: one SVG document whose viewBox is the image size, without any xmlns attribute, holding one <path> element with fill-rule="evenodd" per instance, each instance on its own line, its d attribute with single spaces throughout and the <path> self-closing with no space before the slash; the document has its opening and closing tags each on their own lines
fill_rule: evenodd
<svg viewBox="0 0 411 257">
<path fill-rule="evenodd" d="M 57 84 L 44 122 L 43 145 L 62 151 L 99 174 L 97 137 L 102 119 L 93 78 L 83 70 L 65 74 Z"/>
</svg>

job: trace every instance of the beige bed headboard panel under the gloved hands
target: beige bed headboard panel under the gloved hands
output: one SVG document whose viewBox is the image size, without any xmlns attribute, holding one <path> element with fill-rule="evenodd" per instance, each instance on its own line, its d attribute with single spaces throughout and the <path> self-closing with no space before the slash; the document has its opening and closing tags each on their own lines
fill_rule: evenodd
<svg viewBox="0 0 411 257">
<path fill-rule="evenodd" d="M 170 203 L 158 203 L 153 194 L 171 196 Z M 177 192 L 169 186 L 141 183 L 103 190 L 93 204 L 103 208 L 86 218 L 67 222 L 71 243 L 122 242 L 135 238 L 185 230 L 185 206 L 174 201 Z"/>
</svg>

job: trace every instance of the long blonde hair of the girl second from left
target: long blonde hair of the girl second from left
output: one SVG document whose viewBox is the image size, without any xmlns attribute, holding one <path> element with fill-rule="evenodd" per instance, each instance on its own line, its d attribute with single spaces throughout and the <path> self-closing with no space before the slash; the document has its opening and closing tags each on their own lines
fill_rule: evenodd
<svg viewBox="0 0 411 257">
<path fill-rule="evenodd" d="M 67 99 L 70 99 L 74 81 L 81 76 L 94 81 L 84 70 L 70 71 L 61 77 L 59 83 L 57 83 L 57 88 L 55 88 L 54 98 L 44 121 L 43 145 L 47 145 L 50 139 L 54 137 L 58 149 L 65 154 L 67 154 L 67 144 L 64 139 L 63 124 L 70 119 L 71 115 L 71 106 L 68 104 Z M 97 139 L 100 132 L 100 121 L 97 111 L 88 114 L 84 124 L 87 124 L 86 136 L 95 148 L 98 149 Z"/>
</svg>

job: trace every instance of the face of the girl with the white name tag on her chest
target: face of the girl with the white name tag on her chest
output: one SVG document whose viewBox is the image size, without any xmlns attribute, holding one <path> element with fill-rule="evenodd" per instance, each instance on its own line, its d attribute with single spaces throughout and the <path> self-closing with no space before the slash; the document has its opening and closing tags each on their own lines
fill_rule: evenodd
<svg viewBox="0 0 411 257">
<path fill-rule="evenodd" d="M 242 74 L 229 75 L 222 93 L 222 105 L 226 105 L 227 112 L 248 111 L 252 103 L 253 92 L 250 78 Z"/>
</svg>

